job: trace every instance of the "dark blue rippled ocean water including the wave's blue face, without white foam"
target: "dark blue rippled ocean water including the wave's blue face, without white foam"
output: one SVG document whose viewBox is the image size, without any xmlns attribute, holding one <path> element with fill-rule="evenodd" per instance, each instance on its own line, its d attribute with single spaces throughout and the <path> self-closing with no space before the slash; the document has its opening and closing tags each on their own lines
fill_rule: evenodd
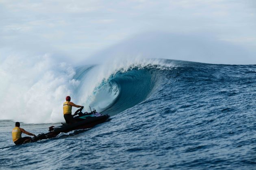
<svg viewBox="0 0 256 170">
<path fill-rule="evenodd" d="M 256 65 L 161 62 L 95 87 L 96 98 L 118 93 L 101 110 L 111 120 L 91 129 L 15 146 L 14 122 L 1 120 L 0 169 L 256 169 Z M 34 134 L 52 125 L 21 123 Z"/>
</svg>

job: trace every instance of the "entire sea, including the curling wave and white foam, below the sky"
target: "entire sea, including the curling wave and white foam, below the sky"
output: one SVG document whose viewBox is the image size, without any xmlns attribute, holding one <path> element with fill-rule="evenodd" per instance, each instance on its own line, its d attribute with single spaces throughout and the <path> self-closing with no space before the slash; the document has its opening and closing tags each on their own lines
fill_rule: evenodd
<svg viewBox="0 0 256 170">
<path fill-rule="evenodd" d="M 138 57 L 74 67 L 50 55 L 9 56 L 0 64 L 0 78 L 0 168 L 256 166 L 256 65 Z M 111 120 L 13 144 L 15 121 L 33 134 L 63 122 L 67 95 Z"/>
</svg>

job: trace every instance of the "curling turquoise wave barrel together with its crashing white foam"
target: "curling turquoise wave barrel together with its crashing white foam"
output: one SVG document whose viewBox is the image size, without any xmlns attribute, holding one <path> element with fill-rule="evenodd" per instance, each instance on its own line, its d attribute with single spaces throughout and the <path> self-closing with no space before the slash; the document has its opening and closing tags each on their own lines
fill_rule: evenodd
<svg viewBox="0 0 256 170">
<path fill-rule="evenodd" d="M 92 106 L 115 114 L 150 94 L 154 87 L 152 79 L 156 79 L 154 70 L 173 67 L 170 60 L 136 58 L 72 67 L 51 55 L 10 55 L 0 65 L 0 79 L 4 80 L 0 85 L 0 95 L 4 96 L 0 109 L 5 113 L 0 119 L 24 123 L 64 121 L 62 103 L 67 95 L 87 111 Z M 139 97 L 135 97 L 136 93 Z"/>
</svg>

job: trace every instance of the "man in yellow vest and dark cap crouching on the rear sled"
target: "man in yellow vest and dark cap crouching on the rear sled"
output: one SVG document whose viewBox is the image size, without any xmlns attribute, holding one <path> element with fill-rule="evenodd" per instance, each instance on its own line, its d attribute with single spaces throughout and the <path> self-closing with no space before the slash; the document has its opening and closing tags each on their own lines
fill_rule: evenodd
<svg viewBox="0 0 256 170">
<path fill-rule="evenodd" d="M 26 130 L 20 128 L 20 122 L 16 122 L 15 127 L 13 128 L 13 131 L 12 131 L 13 142 L 15 144 L 24 144 L 24 143 L 30 142 L 30 140 L 32 139 L 29 136 L 22 138 L 21 137 L 22 133 L 30 135 L 30 136 L 35 136 L 34 134 L 31 134 L 31 133 L 27 132 Z"/>
</svg>

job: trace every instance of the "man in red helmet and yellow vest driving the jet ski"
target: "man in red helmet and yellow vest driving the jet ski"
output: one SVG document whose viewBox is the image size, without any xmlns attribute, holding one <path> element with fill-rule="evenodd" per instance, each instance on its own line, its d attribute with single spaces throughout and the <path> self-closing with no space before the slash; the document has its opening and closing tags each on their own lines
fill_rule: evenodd
<svg viewBox="0 0 256 170">
<path fill-rule="evenodd" d="M 76 121 L 72 115 L 72 106 L 81 107 L 81 108 L 83 108 L 84 106 L 76 105 L 73 102 L 70 102 L 70 100 L 71 100 L 70 96 L 67 96 L 66 102 L 63 103 L 64 119 L 65 119 L 66 123 L 76 123 Z"/>
</svg>

